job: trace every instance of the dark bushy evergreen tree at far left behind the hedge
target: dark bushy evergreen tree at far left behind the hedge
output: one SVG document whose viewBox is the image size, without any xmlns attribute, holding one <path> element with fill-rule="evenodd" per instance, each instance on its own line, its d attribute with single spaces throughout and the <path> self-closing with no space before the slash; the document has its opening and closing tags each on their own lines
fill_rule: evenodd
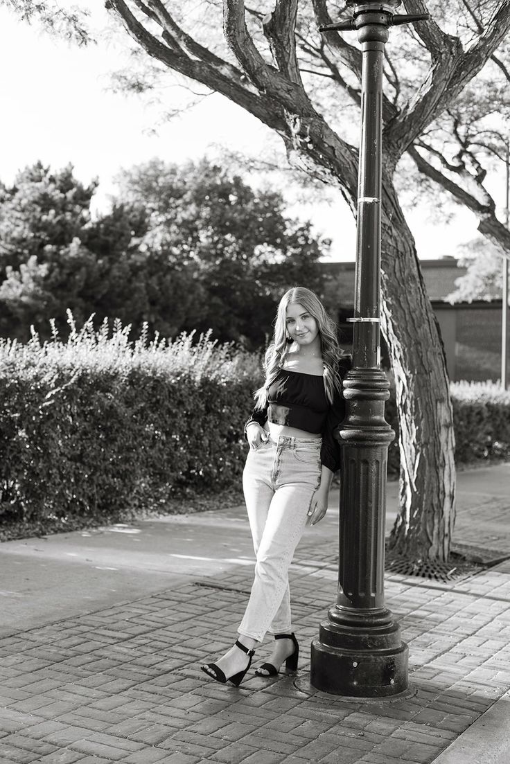
<svg viewBox="0 0 510 764">
<path fill-rule="evenodd" d="M 37 162 L 16 176 L 0 199 L 0 304 L 3 335 L 22 341 L 34 324 L 42 338 L 50 319 L 67 332 L 92 313 L 141 325 L 145 271 L 138 253 L 145 213 L 115 207 L 93 220 L 97 183 L 85 187 L 68 166 L 53 172 Z"/>
</svg>

